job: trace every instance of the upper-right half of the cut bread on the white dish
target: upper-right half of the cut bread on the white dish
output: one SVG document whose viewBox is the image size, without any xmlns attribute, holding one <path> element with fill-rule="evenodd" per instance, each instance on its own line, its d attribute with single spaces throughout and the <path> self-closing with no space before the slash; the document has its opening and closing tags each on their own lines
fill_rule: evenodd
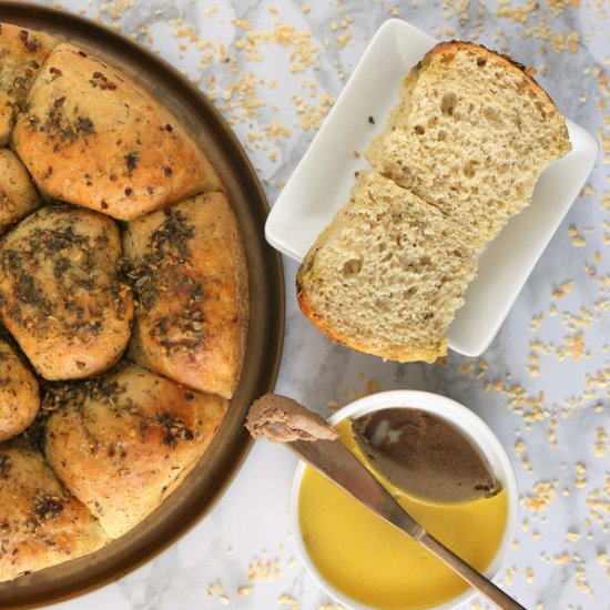
<svg viewBox="0 0 610 610">
<path fill-rule="evenodd" d="M 437 44 L 406 77 L 366 157 L 471 224 L 482 248 L 529 204 L 542 170 L 570 150 L 563 118 L 523 67 L 454 41 Z"/>
</svg>

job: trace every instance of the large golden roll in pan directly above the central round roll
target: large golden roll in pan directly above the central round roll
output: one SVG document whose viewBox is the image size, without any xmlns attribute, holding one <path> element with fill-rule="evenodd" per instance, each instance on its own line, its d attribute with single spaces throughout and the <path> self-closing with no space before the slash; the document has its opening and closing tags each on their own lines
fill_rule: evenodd
<svg viewBox="0 0 610 610">
<path fill-rule="evenodd" d="M 120 220 L 223 189 L 150 92 L 71 44 L 47 59 L 13 139 L 42 191 Z"/>
</svg>

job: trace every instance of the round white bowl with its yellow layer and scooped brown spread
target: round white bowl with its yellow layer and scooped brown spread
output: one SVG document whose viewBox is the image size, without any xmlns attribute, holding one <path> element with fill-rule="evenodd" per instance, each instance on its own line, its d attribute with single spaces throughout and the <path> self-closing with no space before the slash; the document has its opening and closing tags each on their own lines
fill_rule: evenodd
<svg viewBox="0 0 610 610">
<path fill-rule="evenodd" d="M 435 396 L 408 392 L 384 394 Z M 448 400 L 438 398 L 441 401 Z M 363 400 L 366 407 L 367 399 Z M 428 420 L 427 417 L 421 418 L 421 411 L 418 409 L 400 408 L 397 410 L 409 413 L 406 416 L 390 413 L 392 417 L 388 420 L 388 414 L 383 409 L 358 409 L 357 403 L 342 409 L 347 414 L 343 415 L 343 419 L 339 411 L 335 416 L 337 421 L 332 420 L 340 434 L 342 441 L 430 533 L 479 571 L 492 576 L 499 567 L 502 553 L 508 549 L 517 514 L 514 474 L 508 457 L 497 439 L 492 437 L 497 443 L 496 449 L 504 454 L 504 466 L 508 464 L 507 468 L 510 469 L 507 472 L 502 466 L 498 475 L 497 464 L 494 464 L 489 447 L 485 446 L 485 443 L 470 443 L 458 426 L 453 426 L 438 414 L 430 414 L 428 409 L 424 409 L 425 415 L 433 417 L 433 420 Z M 459 413 L 460 416 L 464 415 L 467 419 L 475 418 L 491 435 L 477 416 L 451 400 L 449 403 L 467 411 Z M 403 448 L 390 447 L 388 458 L 387 447 L 385 450 L 380 447 L 384 446 L 384 439 L 386 443 L 389 443 L 389 439 L 398 443 L 400 436 L 406 434 L 405 420 L 413 424 L 414 418 L 415 428 L 407 426 L 406 429 L 410 434 L 419 430 L 423 438 L 434 447 L 428 448 L 431 450 L 425 450 L 420 446 L 419 455 L 416 458 L 411 455 L 408 467 L 397 475 L 396 462 L 405 458 L 400 455 Z M 437 421 L 439 419 L 440 424 Z M 439 434 L 438 425 L 444 424 L 450 427 L 450 431 L 440 430 Z M 392 430 L 396 431 L 396 428 L 403 428 L 403 433 L 388 435 Z M 354 429 L 357 430 L 356 435 Z M 461 429 L 471 428 L 464 426 Z M 437 477 L 436 480 L 425 481 L 426 478 L 434 478 L 430 471 L 435 469 L 434 462 L 438 461 L 439 451 L 443 454 L 443 439 L 446 439 L 447 435 L 450 440 L 448 447 L 453 449 L 456 449 L 454 435 L 459 437 L 457 446 L 462 447 L 467 454 L 468 467 L 472 467 L 472 460 L 478 461 L 476 476 L 457 477 L 460 485 L 455 487 L 458 490 L 466 487 L 466 497 L 461 491 L 455 492 L 451 485 L 450 492 L 446 492 L 445 496 L 431 492 L 439 480 L 448 485 L 453 477 L 455 482 L 455 469 L 446 470 L 440 475 L 440 479 Z M 462 441 L 466 445 L 462 446 Z M 375 447 L 375 451 L 372 451 L 370 447 Z M 393 462 L 389 469 L 387 464 L 380 465 L 379 453 L 385 454 L 385 458 Z M 367 454 L 374 454 L 373 462 L 367 458 Z M 414 476 L 418 467 L 424 468 L 424 478 Z M 479 485 L 482 485 L 485 490 L 477 490 Z M 464 602 L 471 594 L 471 590 L 459 577 L 417 542 L 398 532 L 312 468 L 297 469 L 292 510 L 296 512 L 293 528 L 298 535 L 295 538 L 305 565 L 332 597 L 349 608 L 449 609 Z"/>
</svg>

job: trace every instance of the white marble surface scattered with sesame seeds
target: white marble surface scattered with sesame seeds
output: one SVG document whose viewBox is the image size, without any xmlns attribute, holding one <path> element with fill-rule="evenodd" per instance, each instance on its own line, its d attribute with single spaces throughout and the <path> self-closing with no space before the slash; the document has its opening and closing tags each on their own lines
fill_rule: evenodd
<svg viewBox="0 0 610 610">
<path fill-rule="evenodd" d="M 508 450 L 522 499 L 514 548 L 497 581 L 528 608 L 608 609 L 610 4 L 419 4 L 63 2 L 68 10 L 120 27 L 197 79 L 246 145 L 271 203 L 367 40 L 392 16 L 438 38 L 476 39 L 533 65 L 560 110 L 606 138 L 588 187 L 482 358 L 450 354 L 441 366 L 396 365 L 332 345 L 299 314 L 293 291 L 296 266 L 285 261 L 287 321 L 277 390 L 325 415 L 329 401 L 345 404 L 376 388 L 427 389 L 464 403 Z M 539 315 L 543 317 L 537 321 Z M 58 608 L 328 604 L 301 567 L 291 539 L 287 498 L 294 467 L 282 448 L 257 443 L 212 514 L 179 543 L 120 581 Z M 537 507 L 532 498 L 545 486 L 550 490 L 547 504 Z M 268 578 L 250 583 L 246 592 L 248 566 L 257 561 L 270 562 L 271 570 L 264 570 Z M 480 601 L 471 607 L 479 603 L 486 607 Z"/>
</svg>

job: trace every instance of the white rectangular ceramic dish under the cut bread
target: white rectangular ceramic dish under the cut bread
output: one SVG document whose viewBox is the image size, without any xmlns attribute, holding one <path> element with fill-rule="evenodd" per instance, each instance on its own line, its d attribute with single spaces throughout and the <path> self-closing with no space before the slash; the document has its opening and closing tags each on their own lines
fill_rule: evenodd
<svg viewBox="0 0 610 610">
<path fill-rule="evenodd" d="M 362 153 L 396 104 L 403 77 L 436 42 L 398 19 L 379 28 L 273 205 L 265 226 L 270 244 L 296 261 L 305 257 L 347 203 L 355 172 L 369 169 Z M 576 123 L 567 125 L 572 151 L 541 174 L 531 205 L 479 257 L 478 275 L 449 326 L 455 352 L 478 356 L 487 349 L 594 165 L 597 141 Z"/>
</svg>

